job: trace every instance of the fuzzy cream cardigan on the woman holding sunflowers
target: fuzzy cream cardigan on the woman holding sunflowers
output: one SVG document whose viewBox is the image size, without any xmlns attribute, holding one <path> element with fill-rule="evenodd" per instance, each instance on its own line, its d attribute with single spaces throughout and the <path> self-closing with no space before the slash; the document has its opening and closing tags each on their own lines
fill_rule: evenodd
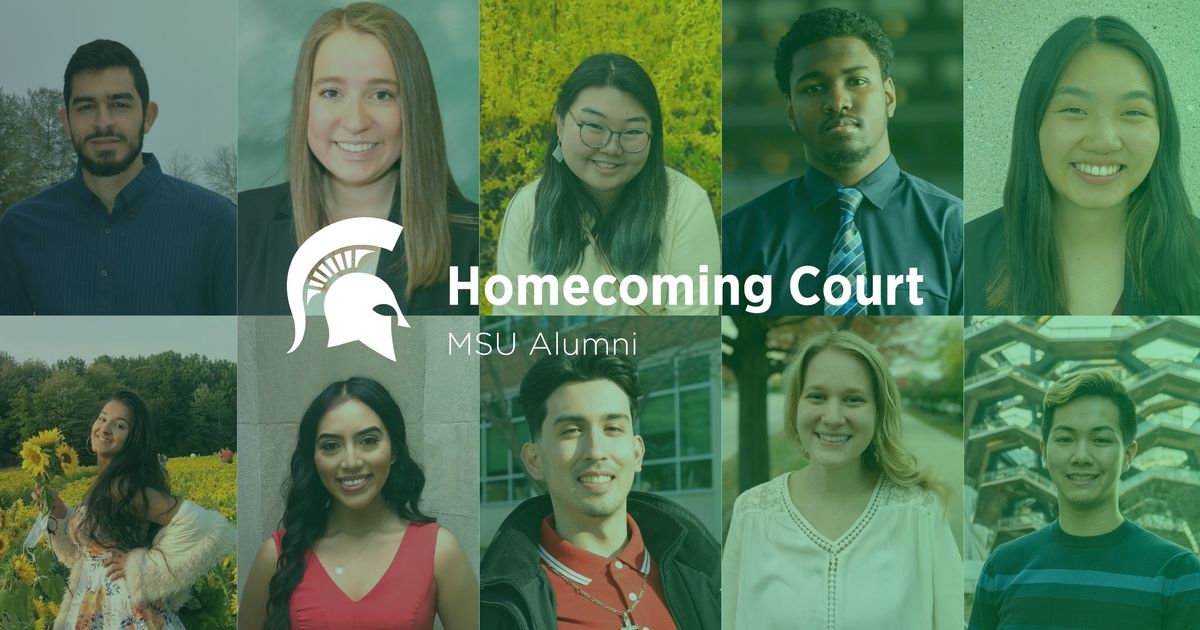
<svg viewBox="0 0 1200 630">
<path fill-rule="evenodd" d="M 79 583 L 84 560 L 80 546 L 84 542 L 76 541 L 70 533 L 72 517 L 74 510 L 68 510 L 66 518 L 60 520 L 56 533 L 49 536 L 54 554 L 71 566 L 70 588 L 59 606 L 55 630 L 74 628 L 76 622 L 65 617 Z M 168 608 L 178 610 L 187 600 L 192 583 L 234 551 L 236 545 L 236 532 L 220 512 L 185 500 L 167 527 L 158 530 L 149 548 L 130 551 L 125 560 L 125 586 L 137 602 L 161 600 Z"/>
</svg>

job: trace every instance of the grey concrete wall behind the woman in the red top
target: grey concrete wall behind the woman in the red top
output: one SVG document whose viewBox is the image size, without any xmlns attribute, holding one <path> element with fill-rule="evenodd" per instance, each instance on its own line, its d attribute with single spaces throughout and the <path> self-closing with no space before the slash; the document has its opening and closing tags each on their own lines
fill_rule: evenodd
<svg viewBox="0 0 1200 630">
<path fill-rule="evenodd" d="M 413 458 L 425 469 L 425 512 L 458 536 L 479 571 L 479 361 L 450 356 L 446 338 L 478 330 L 474 317 L 409 317 L 395 335 L 395 362 L 359 343 L 325 348 L 324 318 L 308 318 L 292 354 L 292 319 L 242 317 L 238 371 L 239 590 L 258 547 L 283 516 L 281 485 L 300 416 L 325 385 L 350 376 L 379 380 L 404 413 Z"/>
</svg>

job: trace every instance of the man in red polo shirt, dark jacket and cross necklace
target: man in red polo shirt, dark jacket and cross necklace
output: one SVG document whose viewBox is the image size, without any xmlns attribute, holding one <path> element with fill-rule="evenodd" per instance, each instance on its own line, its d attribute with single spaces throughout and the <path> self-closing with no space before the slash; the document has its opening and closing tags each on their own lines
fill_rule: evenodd
<svg viewBox="0 0 1200 630">
<path fill-rule="evenodd" d="M 720 550 L 695 515 L 631 492 L 637 365 L 550 355 L 521 382 L 526 469 L 548 496 L 518 505 L 484 557 L 481 629 L 720 628 Z"/>
</svg>

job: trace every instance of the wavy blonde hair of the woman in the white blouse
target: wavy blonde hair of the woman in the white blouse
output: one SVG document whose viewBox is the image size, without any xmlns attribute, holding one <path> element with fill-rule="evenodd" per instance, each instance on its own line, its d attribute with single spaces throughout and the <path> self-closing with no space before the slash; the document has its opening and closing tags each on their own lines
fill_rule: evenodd
<svg viewBox="0 0 1200 630">
<path fill-rule="evenodd" d="M 942 494 L 944 488 L 941 484 L 904 445 L 900 428 L 900 388 L 896 386 L 896 379 L 892 377 L 887 361 L 875 346 L 853 332 L 838 330 L 809 338 L 787 366 L 787 371 L 784 372 L 786 386 L 784 432 L 787 437 L 797 444 L 800 443 L 796 418 L 800 392 L 804 389 L 805 371 L 814 356 L 829 349 L 842 350 L 859 358 L 871 372 L 875 388 L 875 434 L 863 451 L 863 466 L 881 470 L 899 486 L 919 486 Z"/>
</svg>

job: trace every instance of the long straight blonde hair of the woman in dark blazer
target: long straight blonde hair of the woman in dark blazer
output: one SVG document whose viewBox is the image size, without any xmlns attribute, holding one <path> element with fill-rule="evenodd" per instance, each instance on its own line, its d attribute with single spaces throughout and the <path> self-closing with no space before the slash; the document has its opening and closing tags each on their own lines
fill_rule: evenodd
<svg viewBox="0 0 1200 630">
<path fill-rule="evenodd" d="M 400 13 L 374 2 L 331 8 L 308 29 L 292 85 L 292 124 L 288 131 L 288 170 L 292 220 L 296 244 L 329 224 L 322 181 L 325 168 L 308 149 L 308 102 L 317 49 L 329 35 L 349 29 L 374 36 L 391 55 L 400 82 L 400 178 L 395 194 L 404 223 L 404 264 L 408 293 L 443 282 L 450 266 L 450 222 L 470 223 L 448 215 L 446 197 L 462 197 L 446 162 L 442 115 L 425 48 L 412 24 Z"/>
</svg>

